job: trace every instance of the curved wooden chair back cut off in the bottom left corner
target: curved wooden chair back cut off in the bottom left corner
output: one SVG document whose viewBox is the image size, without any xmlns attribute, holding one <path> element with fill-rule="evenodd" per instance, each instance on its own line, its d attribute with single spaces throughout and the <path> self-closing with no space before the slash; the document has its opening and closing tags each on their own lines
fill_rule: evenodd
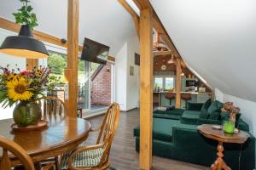
<svg viewBox="0 0 256 170">
<path fill-rule="evenodd" d="M 12 163 L 9 159 L 9 152 L 21 161 L 26 170 L 35 169 L 31 157 L 27 155 L 26 150 L 23 150 L 19 144 L 0 136 L 0 148 L 3 149 L 3 155 L 0 161 L 0 170 L 11 169 Z"/>
</svg>

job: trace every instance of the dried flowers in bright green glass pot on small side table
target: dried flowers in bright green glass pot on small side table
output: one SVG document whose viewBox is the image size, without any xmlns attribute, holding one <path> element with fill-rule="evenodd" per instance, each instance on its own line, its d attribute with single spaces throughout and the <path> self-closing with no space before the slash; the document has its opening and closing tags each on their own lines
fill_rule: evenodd
<svg viewBox="0 0 256 170">
<path fill-rule="evenodd" d="M 227 102 L 223 105 L 221 111 L 230 113 L 229 121 L 224 121 L 224 132 L 234 133 L 236 125 L 236 114 L 239 113 L 240 109 L 234 106 L 232 102 Z"/>
</svg>

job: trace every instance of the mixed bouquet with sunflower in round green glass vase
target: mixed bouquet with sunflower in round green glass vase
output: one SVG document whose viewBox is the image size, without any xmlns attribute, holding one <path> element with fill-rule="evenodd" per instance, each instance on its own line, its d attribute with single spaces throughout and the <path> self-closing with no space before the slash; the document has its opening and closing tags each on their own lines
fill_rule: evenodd
<svg viewBox="0 0 256 170">
<path fill-rule="evenodd" d="M 20 71 L 0 67 L 0 103 L 3 107 L 15 106 L 13 117 L 19 127 L 35 125 L 41 119 L 38 99 L 47 92 L 50 69 L 39 67 L 32 71 Z"/>
</svg>

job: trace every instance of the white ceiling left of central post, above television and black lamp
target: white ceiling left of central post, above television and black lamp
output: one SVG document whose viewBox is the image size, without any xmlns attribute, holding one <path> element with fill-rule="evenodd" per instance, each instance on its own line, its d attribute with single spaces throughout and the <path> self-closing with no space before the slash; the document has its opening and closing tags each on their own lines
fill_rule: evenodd
<svg viewBox="0 0 256 170">
<path fill-rule="evenodd" d="M 0 0 L 0 16 L 15 20 L 12 13 L 20 8 L 18 0 Z M 79 1 L 79 43 L 89 37 L 110 46 L 115 56 L 124 42 L 136 36 L 131 15 L 115 0 Z M 36 27 L 56 37 L 67 38 L 67 0 L 32 0 L 38 16 Z"/>
</svg>

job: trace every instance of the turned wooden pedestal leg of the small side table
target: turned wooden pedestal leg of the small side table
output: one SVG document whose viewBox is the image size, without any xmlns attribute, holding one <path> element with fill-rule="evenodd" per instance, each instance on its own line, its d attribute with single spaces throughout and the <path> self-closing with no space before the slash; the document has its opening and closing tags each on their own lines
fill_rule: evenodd
<svg viewBox="0 0 256 170">
<path fill-rule="evenodd" d="M 222 142 L 218 142 L 217 150 L 218 150 L 218 153 L 217 153 L 218 158 L 216 161 L 214 161 L 214 163 L 212 163 L 211 170 L 222 170 L 222 169 L 231 170 L 231 168 L 228 167 L 223 160 L 224 147 Z"/>
</svg>

